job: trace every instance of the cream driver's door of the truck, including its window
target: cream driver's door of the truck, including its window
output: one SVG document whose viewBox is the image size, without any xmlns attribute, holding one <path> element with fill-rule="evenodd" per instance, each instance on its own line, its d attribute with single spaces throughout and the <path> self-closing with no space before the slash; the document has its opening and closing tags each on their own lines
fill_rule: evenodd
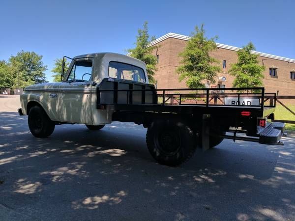
<svg viewBox="0 0 295 221">
<path fill-rule="evenodd" d="M 59 86 L 59 119 L 91 124 L 92 58 L 74 60 Z"/>
</svg>

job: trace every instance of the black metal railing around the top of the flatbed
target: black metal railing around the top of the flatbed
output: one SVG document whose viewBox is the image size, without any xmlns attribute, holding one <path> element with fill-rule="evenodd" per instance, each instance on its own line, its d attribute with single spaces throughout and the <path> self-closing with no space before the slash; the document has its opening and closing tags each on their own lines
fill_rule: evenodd
<svg viewBox="0 0 295 221">
<path fill-rule="evenodd" d="M 222 107 L 232 107 L 233 105 L 226 105 L 221 100 L 222 98 L 237 98 L 237 104 L 234 106 L 236 107 L 244 107 L 245 105 L 241 104 L 240 100 L 242 98 L 259 98 L 259 105 L 251 105 L 251 107 L 260 107 L 262 110 L 264 107 L 275 107 L 276 101 L 276 94 L 275 93 L 265 93 L 264 87 L 239 87 L 239 88 L 173 88 L 173 89 L 117 89 L 118 87 L 114 87 L 115 89 L 100 89 L 97 87 L 97 105 L 117 105 L 118 103 L 118 93 L 125 92 L 127 99 L 126 103 L 124 104 L 135 104 L 132 99 L 132 95 L 134 93 L 141 92 L 141 105 L 145 104 L 153 104 L 153 105 L 193 105 L 193 106 L 222 106 Z M 177 92 L 176 92 L 177 91 Z M 181 93 L 180 91 L 184 91 Z M 191 91 L 191 93 L 188 93 Z M 232 92 L 230 91 L 240 91 L 240 92 Z M 247 91 L 247 92 L 243 92 Z M 255 91 L 255 92 L 248 92 L 248 91 Z M 147 94 L 147 92 L 153 92 L 153 102 L 146 103 L 146 96 L 151 96 L 151 94 Z M 192 93 L 195 92 L 195 93 Z M 101 103 L 101 96 L 104 93 L 112 93 L 112 102 L 108 103 Z M 110 94 L 109 94 L 110 95 Z M 233 97 L 234 96 L 234 97 Z M 160 99 L 159 99 L 160 98 Z M 204 98 L 203 101 L 205 104 L 184 104 L 181 102 L 182 99 L 185 98 Z M 162 99 L 162 102 L 159 100 Z M 170 99 L 170 102 L 167 101 Z M 174 101 L 177 101 L 178 104 L 175 104 Z M 211 101 L 214 101 L 211 104 Z M 218 104 L 217 101 L 220 101 Z M 269 102 L 269 105 L 265 105 L 265 101 Z M 274 101 L 274 102 L 273 102 Z M 211 103 L 210 103 L 211 102 Z M 137 103 L 138 105 L 139 103 Z"/>
</svg>

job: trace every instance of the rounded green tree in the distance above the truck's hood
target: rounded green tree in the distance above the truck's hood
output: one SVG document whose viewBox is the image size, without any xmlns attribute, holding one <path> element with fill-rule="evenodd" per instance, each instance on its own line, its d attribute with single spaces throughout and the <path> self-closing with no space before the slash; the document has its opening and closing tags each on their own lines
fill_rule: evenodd
<svg viewBox="0 0 295 221">
<path fill-rule="evenodd" d="M 46 83 L 47 66 L 42 62 L 42 55 L 34 52 L 18 52 L 9 58 L 11 74 L 14 78 L 13 88 L 24 88 L 34 83 Z"/>
</svg>

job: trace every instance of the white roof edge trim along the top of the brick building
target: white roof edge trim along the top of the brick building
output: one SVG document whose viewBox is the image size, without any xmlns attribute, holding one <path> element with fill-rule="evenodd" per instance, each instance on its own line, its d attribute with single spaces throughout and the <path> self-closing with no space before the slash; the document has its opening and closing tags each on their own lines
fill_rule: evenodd
<svg viewBox="0 0 295 221">
<path fill-rule="evenodd" d="M 159 38 L 157 38 L 156 40 L 152 41 L 149 46 L 155 45 L 161 41 L 166 40 L 167 38 L 177 38 L 177 39 L 181 39 L 181 40 L 185 40 L 188 41 L 189 40 L 189 36 L 186 35 L 182 35 L 182 34 L 176 34 L 176 33 L 168 33 L 165 34 Z M 220 43 L 216 43 L 216 46 L 219 48 L 224 48 L 224 49 L 228 49 L 228 50 L 232 50 L 232 51 L 238 51 L 241 48 L 235 47 L 235 46 L 230 46 L 230 45 L 224 45 L 224 44 L 220 44 Z M 260 55 L 263 57 L 269 57 L 269 58 L 273 58 L 273 59 L 277 59 L 277 60 L 283 60 L 283 61 L 288 61 L 288 62 L 292 62 L 295 63 L 295 59 L 291 59 L 291 58 L 287 58 L 287 57 L 281 57 L 281 56 L 277 56 L 277 55 L 270 55 L 270 54 L 266 54 L 266 53 L 262 53 L 262 52 L 256 52 L 256 51 L 252 51 L 253 54 L 255 55 Z"/>
</svg>

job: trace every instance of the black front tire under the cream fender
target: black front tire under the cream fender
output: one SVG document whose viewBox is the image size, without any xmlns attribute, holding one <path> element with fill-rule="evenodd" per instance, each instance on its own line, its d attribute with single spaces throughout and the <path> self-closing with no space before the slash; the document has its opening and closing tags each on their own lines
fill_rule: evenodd
<svg viewBox="0 0 295 221">
<path fill-rule="evenodd" d="M 34 106 L 29 110 L 28 124 L 31 134 L 36 138 L 47 138 L 55 128 L 55 123 L 39 106 Z"/>
</svg>

